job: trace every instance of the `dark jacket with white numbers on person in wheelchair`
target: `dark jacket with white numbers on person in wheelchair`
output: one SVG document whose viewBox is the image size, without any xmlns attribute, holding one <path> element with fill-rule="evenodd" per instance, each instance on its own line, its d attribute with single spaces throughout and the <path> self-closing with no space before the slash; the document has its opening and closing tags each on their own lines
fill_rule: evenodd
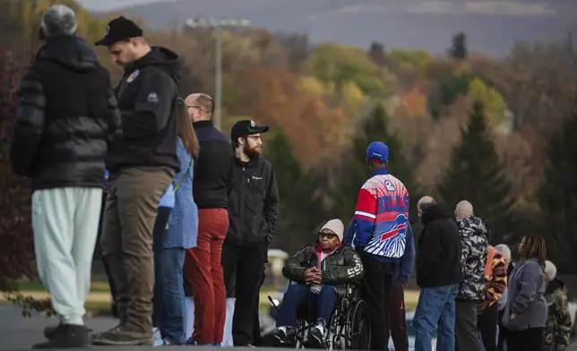
<svg viewBox="0 0 577 351">
<path fill-rule="evenodd" d="M 306 284 L 305 270 L 311 267 L 319 267 L 320 246 L 315 243 L 295 253 L 282 268 L 282 275 L 288 280 L 298 284 Z M 335 287 L 340 297 L 347 293 L 347 284 L 358 285 L 365 276 L 363 263 L 350 247 L 340 246 L 337 251 L 326 257 L 321 264 L 323 285 Z"/>
</svg>

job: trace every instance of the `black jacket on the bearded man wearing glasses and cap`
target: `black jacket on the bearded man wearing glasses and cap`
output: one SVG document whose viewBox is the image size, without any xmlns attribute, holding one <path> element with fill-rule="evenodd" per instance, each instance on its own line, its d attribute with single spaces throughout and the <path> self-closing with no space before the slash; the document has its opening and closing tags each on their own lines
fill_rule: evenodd
<svg viewBox="0 0 577 351">
<path fill-rule="evenodd" d="M 235 158 L 228 185 L 227 244 L 271 240 L 279 217 L 279 189 L 272 165 L 264 158 Z"/>
</svg>

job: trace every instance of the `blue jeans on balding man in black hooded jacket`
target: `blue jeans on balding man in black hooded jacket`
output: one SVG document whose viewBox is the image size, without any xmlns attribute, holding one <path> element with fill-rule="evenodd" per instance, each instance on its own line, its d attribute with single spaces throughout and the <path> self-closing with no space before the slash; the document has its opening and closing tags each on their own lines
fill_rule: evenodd
<svg viewBox="0 0 577 351">
<path fill-rule="evenodd" d="M 459 284 L 421 289 L 417 311 L 413 318 L 413 328 L 416 332 L 415 351 L 431 350 L 435 330 L 437 330 L 436 349 L 454 351 L 455 296 L 458 290 Z"/>
</svg>

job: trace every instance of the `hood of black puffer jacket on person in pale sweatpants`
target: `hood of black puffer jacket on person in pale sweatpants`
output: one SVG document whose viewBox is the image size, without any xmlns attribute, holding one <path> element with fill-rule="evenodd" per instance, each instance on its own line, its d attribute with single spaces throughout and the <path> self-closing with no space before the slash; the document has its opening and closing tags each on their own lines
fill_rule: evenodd
<svg viewBox="0 0 577 351">
<path fill-rule="evenodd" d="M 73 36 L 48 38 L 40 47 L 37 60 L 52 60 L 74 71 L 88 71 L 98 64 L 98 57 L 86 41 Z"/>
</svg>

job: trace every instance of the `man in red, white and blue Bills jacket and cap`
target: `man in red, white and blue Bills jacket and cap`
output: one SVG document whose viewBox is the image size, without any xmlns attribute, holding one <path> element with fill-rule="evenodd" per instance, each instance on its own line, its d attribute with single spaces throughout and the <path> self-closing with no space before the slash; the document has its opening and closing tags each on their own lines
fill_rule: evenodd
<svg viewBox="0 0 577 351">
<path fill-rule="evenodd" d="M 371 311 L 373 350 L 388 350 L 387 297 L 405 253 L 409 227 L 409 193 L 399 179 L 388 174 L 388 160 L 389 148 L 383 142 L 372 142 L 366 149 L 371 177 L 358 193 L 351 230 L 352 245 L 366 272 L 361 291 Z"/>
</svg>

